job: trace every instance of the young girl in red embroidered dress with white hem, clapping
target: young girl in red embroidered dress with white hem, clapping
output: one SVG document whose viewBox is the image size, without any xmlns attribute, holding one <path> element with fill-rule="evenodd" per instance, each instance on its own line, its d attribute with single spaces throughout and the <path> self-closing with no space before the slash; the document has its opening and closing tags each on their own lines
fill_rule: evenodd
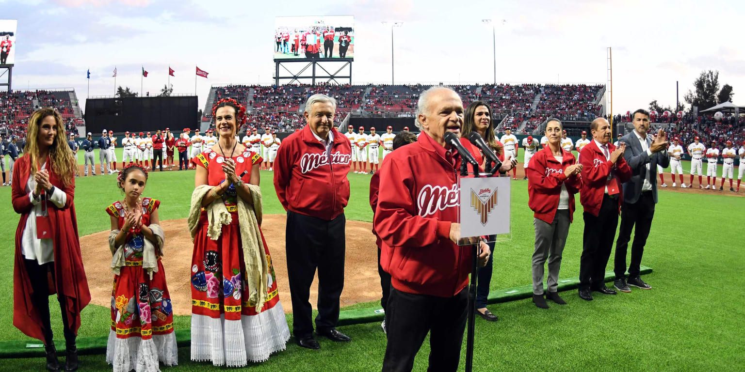
<svg viewBox="0 0 745 372">
<path fill-rule="evenodd" d="M 136 164 L 121 170 L 124 200 L 106 208 L 111 216 L 114 288 L 106 361 L 114 372 L 159 371 L 178 364 L 171 295 L 160 257 L 164 234 L 158 225 L 160 201 L 143 198 L 148 172 Z"/>
</svg>

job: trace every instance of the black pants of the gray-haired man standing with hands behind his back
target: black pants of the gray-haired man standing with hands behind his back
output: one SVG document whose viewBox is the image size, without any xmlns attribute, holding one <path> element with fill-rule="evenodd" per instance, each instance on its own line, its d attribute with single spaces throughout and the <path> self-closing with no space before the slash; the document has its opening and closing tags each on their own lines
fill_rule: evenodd
<svg viewBox="0 0 745 372">
<path fill-rule="evenodd" d="M 318 316 L 316 330 L 331 330 L 339 321 L 339 297 L 344 288 L 346 247 L 344 214 L 326 221 L 287 213 L 285 253 L 292 300 L 292 333 L 297 338 L 313 333 L 311 283 L 318 269 Z"/>
</svg>

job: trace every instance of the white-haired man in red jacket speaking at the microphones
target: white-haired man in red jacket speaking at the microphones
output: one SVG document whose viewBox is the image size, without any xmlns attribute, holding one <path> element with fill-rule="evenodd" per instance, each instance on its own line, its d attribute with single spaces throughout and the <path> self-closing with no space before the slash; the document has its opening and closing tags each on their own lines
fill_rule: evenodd
<svg viewBox="0 0 745 372">
<path fill-rule="evenodd" d="M 480 237 L 460 237 L 457 170 L 460 158 L 444 139 L 460 133 L 463 103 L 435 86 L 419 97 L 419 140 L 390 153 L 380 168 L 375 231 L 381 266 L 391 275 L 383 371 L 411 371 L 431 331 L 430 368 L 456 371 L 466 328 L 471 248 Z M 489 259 L 481 242 L 479 265 Z"/>
</svg>

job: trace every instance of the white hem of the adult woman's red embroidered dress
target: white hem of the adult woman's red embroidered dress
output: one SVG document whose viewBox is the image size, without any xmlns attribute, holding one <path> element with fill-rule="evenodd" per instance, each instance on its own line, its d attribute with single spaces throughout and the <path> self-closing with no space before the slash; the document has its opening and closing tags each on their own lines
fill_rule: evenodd
<svg viewBox="0 0 745 372">
<path fill-rule="evenodd" d="M 259 315 L 241 315 L 241 321 L 226 321 L 191 314 L 191 360 L 213 365 L 244 367 L 264 362 L 272 353 L 285 350 L 290 339 L 282 303 Z"/>
</svg>

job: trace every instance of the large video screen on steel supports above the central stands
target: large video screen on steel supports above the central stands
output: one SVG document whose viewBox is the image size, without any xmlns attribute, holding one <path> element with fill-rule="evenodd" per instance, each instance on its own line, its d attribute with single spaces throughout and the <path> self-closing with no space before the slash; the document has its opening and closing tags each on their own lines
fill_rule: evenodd
<svg viewBox="0 0 745 372">
<path fill-rule="evenodd" d="M 276 17 L 273 46 L 275 60 L 352 59 L 355 57 L 355 17 Z"/>
</svg>

